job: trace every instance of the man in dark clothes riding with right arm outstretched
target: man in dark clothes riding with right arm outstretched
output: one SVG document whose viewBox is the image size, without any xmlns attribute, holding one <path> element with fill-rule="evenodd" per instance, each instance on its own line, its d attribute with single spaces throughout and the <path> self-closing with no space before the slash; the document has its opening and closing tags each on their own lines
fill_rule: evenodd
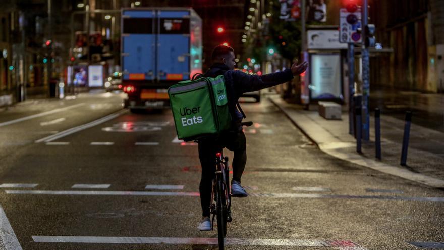
<svg viewBox="0 0 444 250">
<path fill-rule="evenodd" d="M 215 138 L 204 138 L 198 140 L 199 160 L 202 166 L 202 177 L 200 179 L 199 193 L 202 206 L 202 220 L 198 229 L 201 231 L 211 230 L 210 222 L 210 199 L 212 180 L 214 178 L 214 159 L 217 151 L 226 147 L 234 152 L 233 157 L 233 180 L 231 182 L 231 194 L 233 197 L 247 197 L 248 194 L 241 186 L 241 176 L 247 162 L 246 139 L 242 131 L 242 119 L 245 115 L 238 103 L 243 93 L 260 90 L 282 84 L 293 79 L 293 76 L 303 73 L 308 63 L 299 65 L 294 63 L 290 69 L 262 76 L 245 74 L 234 70 L 236 67 L 234 50 L 230 46 L 218 45 L 213 49 L 211 59 L 213 64 L 205 72 L 204 76 L 216 77 L 224 75 L 229 111 L 232 117 L 232 127 L 229 131 Z"/>
</svg>

